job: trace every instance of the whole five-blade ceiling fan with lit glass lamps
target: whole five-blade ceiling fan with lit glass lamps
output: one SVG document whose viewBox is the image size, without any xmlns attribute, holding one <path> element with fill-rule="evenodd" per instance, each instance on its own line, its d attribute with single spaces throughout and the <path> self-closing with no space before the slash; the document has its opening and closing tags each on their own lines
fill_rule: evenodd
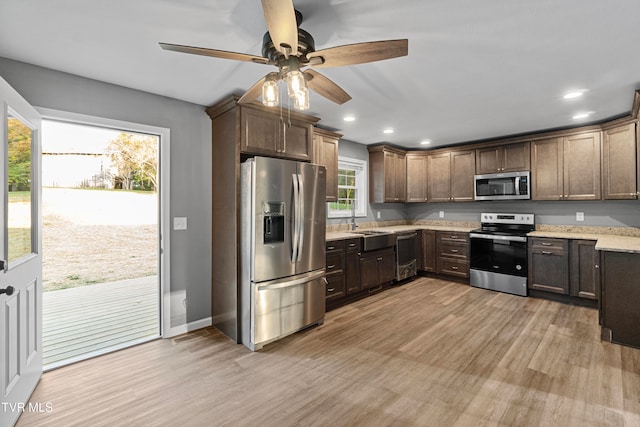
<svg viewBox="0 0 640 427">
<path fill-rule="evenodd" d="M 337 104 L 344 104 L 351 99 L 333 81 L 313 69 L 303 70 L 305 67 L 340 67 L 408 54 L 407 39 L 355 43 L 315 50 L 311 34 L 300 28 L 302 14 L 294 9 L 292 0 L 262 0 L 262 9 L 268 29 L 262 39 L 262 56 L 170 43 L 160 43 L 160 47 L 195 55 L 275 65 L 278 71 L 261 78 L 238 102 L 250 102 L 262 95 L 264 105 L 276 106 L 279 104 L 278 81 L 285 80 L 288 95 L 294 100 L 294 108 L 299 110 L 309 108 L 309 89 Z"/>
</svg>

